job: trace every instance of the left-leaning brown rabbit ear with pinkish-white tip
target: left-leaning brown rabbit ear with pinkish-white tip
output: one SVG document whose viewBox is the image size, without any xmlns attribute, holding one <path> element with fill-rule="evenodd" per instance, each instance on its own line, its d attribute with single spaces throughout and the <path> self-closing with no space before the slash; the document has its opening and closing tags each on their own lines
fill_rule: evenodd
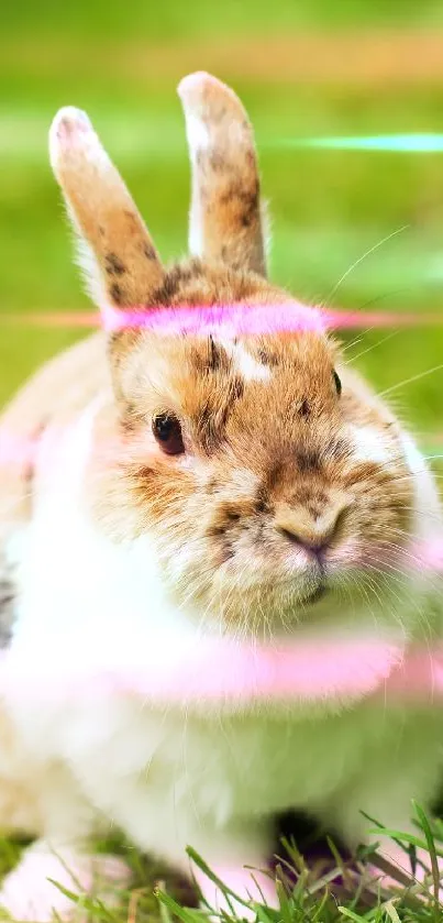
<svg viewBox="0 0 443 923">
<path fill-rule="evenodd" d="M 79 262 L 96 304 L 148 306 L 165 272 L 120 174 L 79 109 L 66 107 L 49 132 L 51 163 L 79 237 Z"/>
</svg>

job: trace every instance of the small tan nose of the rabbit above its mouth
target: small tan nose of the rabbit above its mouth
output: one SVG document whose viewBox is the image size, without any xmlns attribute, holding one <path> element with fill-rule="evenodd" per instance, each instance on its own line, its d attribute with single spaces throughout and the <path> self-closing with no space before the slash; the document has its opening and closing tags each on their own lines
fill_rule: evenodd
<svg viewBox="0 0 443 923">
<path fill-rule="evenodd" d="M 348 507 L 344 497 L 322 509 L 308 503 L 281 504 L 276 510 L 275 527 L 289 541 L 319 557 L 337 538 Z"/>
</svg>

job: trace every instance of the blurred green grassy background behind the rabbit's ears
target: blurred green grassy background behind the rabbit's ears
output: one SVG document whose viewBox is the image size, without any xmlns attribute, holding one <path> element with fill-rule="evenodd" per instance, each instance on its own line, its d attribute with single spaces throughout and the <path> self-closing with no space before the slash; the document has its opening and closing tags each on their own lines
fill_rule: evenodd
<svg viewBox="0 0 443 923">
<path fill-rule="evenodd" d="M 1 402 L 40 362 L 84 336 L 11 322 L 88 307 L 48 165 L 56 110 L 88 111 L 163 256 L 173 259 L 186 251 L 189 196 L 176 86 L 196 69 L 230 83 L 254 121 L 273 218 L 273 278 L 301 299 L 432 311 L 443 321 L 443 154 L 288 144 L 312 135 L 443 131 L 441 0 L 4 2 Z M 345 339 L 350 360 L 380 389 L 443 362 L 443 323 Z M 395 394 L 434 451 L 442 387 L 443 370 Z"/>
</svg>

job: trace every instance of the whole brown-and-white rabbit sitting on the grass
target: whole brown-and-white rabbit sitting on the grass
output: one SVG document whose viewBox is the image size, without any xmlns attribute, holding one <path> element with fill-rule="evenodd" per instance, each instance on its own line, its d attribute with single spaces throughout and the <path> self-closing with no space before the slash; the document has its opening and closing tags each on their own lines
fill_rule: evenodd
<svg viewBox="0 0 443 923">
<path fill-rule="evenodd" d="M 379 839 L 362 812 L 407 832 L 411 799 L 439 792 L 431 683 L 396 694 L 414 646 L 442 634 L 440 576 L 418 551 L 442 538 L 435 479 L 321 311 L 268 281 L 235 94 L 206 73 L 178 94 L 190 256 L 169 268 L 88 117 L 67 107 L 51 128 L 104 329 L 37 371 L 2 420 L 29 448 L 19 465 L 5 453 L 1 493 L 15 561 L 1 785 L 22 791 L 0 820 L 36 843 L 0 904 L 21 919 L 69 916 L 47 876 L 66 881 L 73 862 L 91 888 L 88 842 L 113 824 L 186 873 L 192 846 L 251 914 L 248 897 L 276 900 L 278 812 L 306 810 L 354 849 Z M 298 315 L 299 329 L 273 327 Z M 101 873 L 109 888 L 129 871 L 104 857 Z"/>
</svg>

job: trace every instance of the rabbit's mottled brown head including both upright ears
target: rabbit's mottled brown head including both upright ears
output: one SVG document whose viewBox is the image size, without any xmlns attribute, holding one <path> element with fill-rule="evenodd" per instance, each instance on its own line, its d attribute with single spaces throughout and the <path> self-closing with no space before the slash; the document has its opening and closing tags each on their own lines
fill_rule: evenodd
<svg viewBox="0 0 443 923">
<path fill-rule="evenodd" d="M 92 297 L 104 318 L 132 318 L 109 333 L 113 399 L 88 472 L 93 516 L 114 541 L 147 535 L 171 596 L 223 627 L 294 626 L 343 589 L 344 607 L 348 593 L 376 609 L 412 560 L 409 443 L 320 327 L 273 330 L 273 311 L 297 303 L 266 278 L 250 122 L 209 75 L 185 78 L 179 95 L 192 255 L 170 268 L 88 118 L 63 109 L 51 131 Z M 267 327 L 226 332 L 232 305 L 245 317 L 267 307 Z M 204 308 L 220 309 L 228 326 L 206 318 L 186 332 L 181 307 L 202 322 Z M 153 326 L 164 309 L 175 331 Z"/>
</svg>

